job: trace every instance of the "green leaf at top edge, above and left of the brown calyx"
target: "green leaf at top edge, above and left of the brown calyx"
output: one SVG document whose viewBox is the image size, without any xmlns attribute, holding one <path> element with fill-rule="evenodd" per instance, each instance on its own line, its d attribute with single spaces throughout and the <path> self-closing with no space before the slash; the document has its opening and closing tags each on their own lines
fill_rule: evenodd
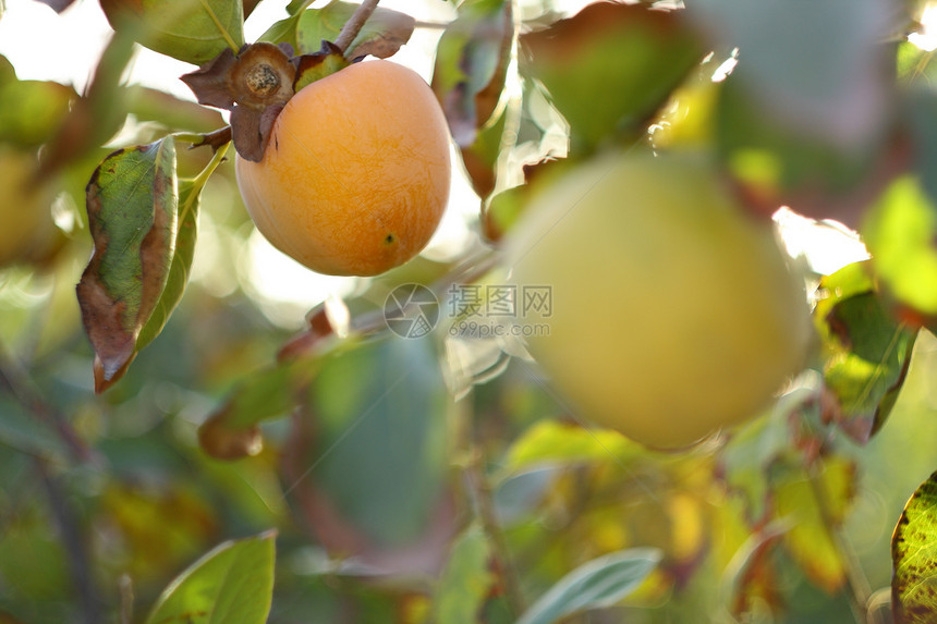
<svg viewBox="0 0 937 624">
<path fill-rule="evenodd" d="M 101 0 L 114 30 L 150 50 L 199 65 L 244 45 L 241 0 Z"/>
</svg>

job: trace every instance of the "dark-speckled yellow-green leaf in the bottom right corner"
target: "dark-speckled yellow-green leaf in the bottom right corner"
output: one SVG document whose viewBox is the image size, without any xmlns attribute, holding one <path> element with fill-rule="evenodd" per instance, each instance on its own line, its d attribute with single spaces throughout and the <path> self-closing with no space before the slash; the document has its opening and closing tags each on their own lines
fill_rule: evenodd
<svg viewBox="0 0 937 624">
<path fill-rule="evenodd" d="M 904 505 L 891 538 L 896 624 L 927 624 L 937 613 L 937 473 Z"/>
</svg>

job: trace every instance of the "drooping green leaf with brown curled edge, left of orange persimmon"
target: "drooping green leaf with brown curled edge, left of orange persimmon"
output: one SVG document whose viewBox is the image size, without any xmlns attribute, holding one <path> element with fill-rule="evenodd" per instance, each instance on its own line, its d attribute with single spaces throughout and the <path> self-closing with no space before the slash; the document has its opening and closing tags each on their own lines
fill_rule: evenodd
<svg viewBox="0 0 937 624">
<path fill-rule="evenodd" d="M 108 156 L 87 186 L 94 254 L 76 292 L 95 350 L 95 391 L 126 371 L 175 252 L 179 189 L 171 136 Z"/>
</svg>

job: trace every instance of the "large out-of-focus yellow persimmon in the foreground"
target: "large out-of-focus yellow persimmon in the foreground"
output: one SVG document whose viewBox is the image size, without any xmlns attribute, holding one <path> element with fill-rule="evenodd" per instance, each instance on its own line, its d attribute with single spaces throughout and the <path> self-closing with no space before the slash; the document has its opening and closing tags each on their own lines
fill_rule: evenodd
<svg viewBox="0 0 937 624">
<path fill-rule="evenodd" d="M 758 414 L 805 364 L 802 281 L 701 156 L 580 166 L 506 247 L 512 282 L 552 289 L 531 353 L 582 416 L 649 446 Z"/>
</svg>

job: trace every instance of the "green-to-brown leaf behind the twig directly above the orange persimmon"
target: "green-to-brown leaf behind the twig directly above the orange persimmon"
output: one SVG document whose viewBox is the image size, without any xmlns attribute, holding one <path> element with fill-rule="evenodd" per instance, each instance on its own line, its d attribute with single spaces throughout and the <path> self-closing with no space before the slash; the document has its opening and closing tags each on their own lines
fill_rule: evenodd
<svg viewBox="0 0 937 624">
<path fill-rule="evenodd" d="M 296 25 L 296 53 L 317 52 L 323 41 L 334 42 L 355 9 L 357 4 L 350 2 L 330 2 L 321 9 L 308 9 L 300 13 Z M 416 21 L 410 15 L 378 7 L 345 50 L 345 57 L 391 57 L 410 40 L 415 25 Z"/>
</svg>

